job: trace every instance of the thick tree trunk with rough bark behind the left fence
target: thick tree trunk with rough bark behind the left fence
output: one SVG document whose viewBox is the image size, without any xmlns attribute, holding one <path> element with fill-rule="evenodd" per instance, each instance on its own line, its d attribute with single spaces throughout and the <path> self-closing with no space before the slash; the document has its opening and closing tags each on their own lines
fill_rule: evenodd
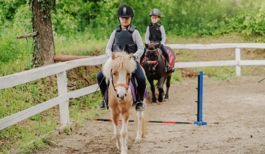
<svg viewBox="0 0 265 154">
<path fill-rule="evenodd" d="M 33 36 L 33 67 L 55 63 L 53 60 L 55 48 L 49 6 L 51 6 L 49 0 L 40 2 L 32 0 L 32 27 L 33 32 L 37 32 L 37 35 Z"/>
</svg>

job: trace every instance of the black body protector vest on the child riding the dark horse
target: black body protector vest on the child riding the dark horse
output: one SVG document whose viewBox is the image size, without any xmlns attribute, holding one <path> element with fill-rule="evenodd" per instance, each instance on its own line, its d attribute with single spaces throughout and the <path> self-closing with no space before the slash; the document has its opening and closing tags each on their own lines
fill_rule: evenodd
<svg viewBox="0 0 265 154">
<path fill-rule="evenodd" d="M 161 22 L 156 23 L 155 25 L 152 24 L 152 22 L 150 22 L 149 26 L 149 40 L 150 41 L 158 41 L 160 42 L 162 40 L 162 36 L 161 36 L 161 31 L 159 30 L 160 26 L 161 26 Z"/>
</svg>

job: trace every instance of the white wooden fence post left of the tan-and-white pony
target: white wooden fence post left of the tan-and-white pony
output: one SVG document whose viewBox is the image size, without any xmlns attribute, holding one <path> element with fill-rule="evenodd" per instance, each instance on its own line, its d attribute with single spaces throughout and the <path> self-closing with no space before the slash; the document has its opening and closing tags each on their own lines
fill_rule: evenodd
<svg viewBox="0 0 265 154">
<path fill-rule="evenodd" d="M 61 96 L 61 95 L 67 93 L 66 72 L 63 71 L 61 73 L 57 73 L 56 76 L 57 76 L 57 85 L 58 85 L 58 96 Z M 69 104 L 69 100 L 64 101 L 64 102 L 59 104 L 61 125 L 70 124 L 69 105 L 68 104 Z"/>
</svg>

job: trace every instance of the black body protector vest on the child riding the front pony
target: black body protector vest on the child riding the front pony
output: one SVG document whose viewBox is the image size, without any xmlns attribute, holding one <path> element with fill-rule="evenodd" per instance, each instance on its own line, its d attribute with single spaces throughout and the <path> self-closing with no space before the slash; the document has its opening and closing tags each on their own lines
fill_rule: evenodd
<svg viewBox="0 0 265 154">
<path fill-rule="evenodd" d="M 114 42 L 112 44 L 112 52 L 119 49 L 125 50 L 127 53 L 135 53 L 137 51 L 137 45 L 133 41 L 133 31 L 135 26 L 131 25 L 128 30 L 122 30 L 121 25 L 116 26 L 116 33 Z"/>
</svg>

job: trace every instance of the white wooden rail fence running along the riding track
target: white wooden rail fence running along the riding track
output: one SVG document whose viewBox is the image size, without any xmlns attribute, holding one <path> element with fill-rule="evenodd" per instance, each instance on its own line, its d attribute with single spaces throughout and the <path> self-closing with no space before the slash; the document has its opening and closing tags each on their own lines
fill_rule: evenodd
<svg viewBox="0 0 265 154">
<path fill-rule="evenodd" d="M 203 61 L 203 62 L 178 62 L 175 68 L 187 67 L 210 67 L 210 66 L 236 66 L 236 74 L 240 76 L 240 66 L 243 65 L 265 65 L 265 60 L 240 60 L 240 48 L 265 48 L 265 43 L 226 43 L 226 44 L 167 44 L 172 49 L 221 49 L 235 48 L 235 60 L 220 61 Z M 92 66 L 105 63 L 105 55 L 96 57 L 71 60 L 43 66 L 28 71 L 23 71 L 7 76 L 0 77 L 0 89 L 20 85 L 26 82 L 37 80 L 53 74 L 57 76 L 58 97 L 42 102 L 36 106 L 25 109 L 13 115 L 0 119 L 0 130 L 20 122 L 30 116 L 40 113 L 59 104 L 61 125 L 70 123 L 68 101 L 70 98 L 77 98 L 94 92 L 97 85 L 81 88 L 75 91 L 67 92 L 67 75 L 68 69 L 80 66 Z"/>
</svg>

